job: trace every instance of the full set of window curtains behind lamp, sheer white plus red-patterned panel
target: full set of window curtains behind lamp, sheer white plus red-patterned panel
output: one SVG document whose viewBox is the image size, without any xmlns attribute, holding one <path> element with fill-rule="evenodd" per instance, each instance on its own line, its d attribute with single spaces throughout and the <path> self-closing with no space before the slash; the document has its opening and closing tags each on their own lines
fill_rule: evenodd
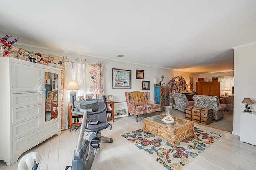
<svg viewBox="0 0 256 170">
<path fill-rule="evenodd" d="M 64 69 L 62 130 L 68 129 L 68 104 L 71 90 L 66 90 L 65 87 L 70 81 L 76 81 L 80 86 L 79 90 L 75 90 L 76 100 L 78 100 L 78 96 L 86 98 L 86 94 L 93 94 L 94 98 L 96 98 L 96 94 L 104 94 L 103 63 L 91 65 L 85 61 L 67 59 Z"/>
</svg>

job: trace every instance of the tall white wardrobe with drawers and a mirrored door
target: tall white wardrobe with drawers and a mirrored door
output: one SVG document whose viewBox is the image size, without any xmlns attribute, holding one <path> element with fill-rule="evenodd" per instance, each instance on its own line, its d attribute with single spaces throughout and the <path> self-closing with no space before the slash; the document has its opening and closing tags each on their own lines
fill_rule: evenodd
<svg viewBox="0 0 256 170">
<path fill-rule="evenodd" d="M 0 160 L 7 165 L 42 141 L 61 134 L 60 112 L 56 112 L 61 104 L 60 72 L 50 66 L 0 57 Z M 45 111 L 46 94 L 38 92 L 40 85 L 46 86 L 46 75 L 54 75 L 55 89 L 59 89 L 54 98 L 57 116 L 47 121 L 46 113 L 51 111 Z"/>
</svg>

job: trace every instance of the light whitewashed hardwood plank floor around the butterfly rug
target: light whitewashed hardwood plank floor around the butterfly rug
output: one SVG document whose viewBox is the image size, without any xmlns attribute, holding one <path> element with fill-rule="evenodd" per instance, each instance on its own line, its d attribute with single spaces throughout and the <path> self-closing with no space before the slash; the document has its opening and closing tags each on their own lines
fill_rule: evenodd
<svg viewBox="0 0 256 170">
<path fill-rule="evenodd" d="M 146 152 L 134 147 L 121 135 L 143 128 L 143 118 L 158 115 L 149 113 L 138 117 L 122 117 L 115 119 L 110 128 L 104 129 L 102 135 L 112 137 L 113 143 L 102 141 L 100 150 L 96 153 L 92 170 L 166 170 Z M 183 170 L 255 170 L 256 146 L 241 143 L 239 137 L 195 124 L 203 130 L 213 131 L 222 135 L 204 152 L 200 153 Z M 39 152 L 42 156 L 38 170 L 64 170 L 67 165 L 72 165 L 72 154 L 76 147 L 78 131 L 62 131 L 59 136 L 53 136 L 28 152 Z M 87 133 L 85 133 L 86 137 Z M 87 137 L 86 137 L 87 138 Z M 22 154 L 24 156 L 28 152 Z M 21 157 L 20 157 L 21 158 Z M 19 160 L 20 160 L 19 158 Z M 18 160 L 18 161 L 19 161 Z M 16 170 L 18 162 L 6 166 L 0 161 L 0 170 Z"/>
</svg>

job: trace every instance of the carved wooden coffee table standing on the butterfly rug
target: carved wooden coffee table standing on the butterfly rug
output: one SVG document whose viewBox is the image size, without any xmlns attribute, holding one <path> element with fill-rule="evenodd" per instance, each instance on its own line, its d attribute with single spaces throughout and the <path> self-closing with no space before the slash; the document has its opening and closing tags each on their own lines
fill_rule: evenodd
<svg viewBox="0 0 256 170">
<path fill-rule="evenodd" d="M 144 132 L 152 133 L 175 146 L 179 141 L 194 135 L 194 122 L 186 119 L 174 118 L 173 123 L 164 123 L 165 115 L 157 115 L 144 119 Z"/>
</svg>

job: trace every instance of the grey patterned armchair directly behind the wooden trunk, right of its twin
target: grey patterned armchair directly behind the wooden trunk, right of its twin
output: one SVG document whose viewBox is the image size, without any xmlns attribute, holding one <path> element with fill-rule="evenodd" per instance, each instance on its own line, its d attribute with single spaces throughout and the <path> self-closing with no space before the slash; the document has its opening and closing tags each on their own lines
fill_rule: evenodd
<svg viewBox="0 0 256 170">
<path fill-rule="evenodd" d="M 194 95 L 195 107 L 212 109 L 213 119 L 218 121 L 224 117 L 224 111 L 220 107 L 220 100 L 217 96 Z"/>
</svg>

